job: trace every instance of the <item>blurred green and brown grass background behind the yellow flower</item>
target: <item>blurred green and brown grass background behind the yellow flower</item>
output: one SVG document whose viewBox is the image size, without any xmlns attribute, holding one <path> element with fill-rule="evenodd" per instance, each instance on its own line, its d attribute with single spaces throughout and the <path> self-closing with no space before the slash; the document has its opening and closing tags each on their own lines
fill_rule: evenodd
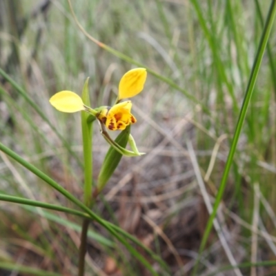
<svg viewBox="0 0 276 276">
<path fill-rule="evenodd" d="M 79 0 L 72 5 L 92 37 L 154 72 L 132 101 L 138 119 L 132 135 L 147 155 L 122 159 L 96 213 L 157 252 L 170 275 L 190 275 L 208 213 L 186 142 L 192 141 L 213 202 L 269 2 Z M 274 26 L 218 213 L 237 264 L 261 263 L 245 265 L 242 275 L 276 273 L 274 263 L 265 263 L 276 256 L 275 42 Z M 90 77 L 92 107 L 112 105 L 119 79 L 133 67 L 82 33 L 66 0 L 0 0 L 0 68 L 21 88 L 0 74 L 1 143 L 81 199 L 80 116 L 57 112 L 48 99 L 65 89 L 80 95 Z M 108 145 L 97 125 L 93 131 L 97 177 Z M 0 179 L 3 194 L 73 207 L 3 152 Z M 81 219 L 50 213 L 51 219 L 39 208 L 4 201 L 0 208 L 3 271 L 10 270 L 7 264 L 22 264 L 48 275 L 77 275 L 75 225 Z M 96 223 L 90 230 L 101 236 L 91 234 L 88 275 L 148 275 L 106 230 Z M 220 242 L 214 230 L 199 275 L 230 264 Z M 162 275 L 152 260 L 155 265 Z M 31 273 L 24 271 L 20 275 Z"/>
</svg>

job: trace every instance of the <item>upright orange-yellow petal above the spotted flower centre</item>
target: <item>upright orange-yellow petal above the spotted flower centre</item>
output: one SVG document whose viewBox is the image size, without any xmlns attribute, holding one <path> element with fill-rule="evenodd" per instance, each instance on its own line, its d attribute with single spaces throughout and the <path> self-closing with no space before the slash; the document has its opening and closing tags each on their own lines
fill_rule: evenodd
<svg viewBox="0 0 276 276">
<path fill-rule="evenodd" d="M 146 68 L 135 68 L 126 72 L 119 83 L 118 101 L 139 94 L 146 81 Z"/>
</svg>

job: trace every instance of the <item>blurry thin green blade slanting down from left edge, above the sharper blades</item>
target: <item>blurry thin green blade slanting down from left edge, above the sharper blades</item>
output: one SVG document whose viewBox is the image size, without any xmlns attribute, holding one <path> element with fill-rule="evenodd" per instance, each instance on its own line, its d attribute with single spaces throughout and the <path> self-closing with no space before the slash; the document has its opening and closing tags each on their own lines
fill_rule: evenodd
<svg viewBox="0 0 276 276">
<path fill-rule="evenodd" d="M 55 132 L 55 134 L 57 135 L 57 137 L 59 137 L 59 139 L 61 139 L 61 141 L 63 142 L 64 146 L 66 146 L 66 148 L 68 149 L 68 151 L 70 152 L 70 154 L 75 157 L 75 159 L 77 160 L 79 166 L 83 166 L 83 164 L 81 163 L 81 161 L 79 160 L 79 157 L 77 156 L 77 154 L 71 149 L 70 144 L 68 144 L 68 141 L 66 141 L 66 139 L 64 139 L 64 137 L 59 133 L 59 131 L 57 130 L 57 128 L 55 128 L 54 125 L 52 125 L 52 123 L 49 121 L 48 117 L 45 115 L 45 113 L 43 113 L 43 111 L 41 110 L 41 108 L 39 108 L 39 106 L 37 106 L 36 103 L 34 103 L 34 101 L 32 101 L 32 99 L 28 96 L 28 94 L 26 93 L 25 90 L 23 90 L 8 74 L 6 74 L 6 72 L 4 72 L 1 68 L 0 68 L 0 75 L 6 79 L 6 81 L 8 81 L 15 90 L 17 90 L 17 92 L 19 92 L 19 94 L 23 97 L 23 99 L 25 99 L 30 106 L 32 106 L 32 108 L 34 108 L 34 110 L 37 112 L 37 114 L 44 120 L 46 121 L 46 123 L 50 126 L 50 128 L 52 128 L 52 130 Z"/>
</svg>

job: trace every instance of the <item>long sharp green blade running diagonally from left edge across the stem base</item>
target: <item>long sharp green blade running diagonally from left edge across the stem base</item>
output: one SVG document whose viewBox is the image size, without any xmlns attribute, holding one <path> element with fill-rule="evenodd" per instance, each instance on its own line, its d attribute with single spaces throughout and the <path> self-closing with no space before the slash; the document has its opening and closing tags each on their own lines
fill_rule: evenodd
<svg viewBox="0 0 276 276">
<path fill-rule="evenodd" d="M 74 197 L 71 193 L 69 193 L 65 188 L 61 187 L 59 184 L 57 184 L 56 181 L 48 177 L 45 173 L 41 172 L 38 168 L 33 166 L 32 164 L 28 163 L 28 161 L 24 160 L 22 157 L 17 155 L 14 151 L 10 150 L 6 146 L 4 146 L 0 142 L 0 150 L 6 153 L 6 155 L 12 157 L 12 159 L 16 160 L 19 164 L 30 170 L 30 172 L 33 172 L 34 175 L 37 175 L 40 179 L 43 179 L 43 181 L 46 181 L 47 184 L 52 186 L 52 188 L 55 188 L 55 190 L 59 191 L 62 195 L 64 195 L 67 199 L 72 201 L 74 204 L 76 204 L 81 210 L 83 210 L 85 213 L 87 213 L 91 219 L 97 221 L 103 228 L 106 228 L 108 232 L 113 235 L 121 244 L 123 244 L 127 250 L 134 256 L 136 257 L 141 264 L 144 265 L 145 268 L 147 268 L 152 275 L 158 275 L 155 270 L 152 268 L 152 266 L 149 264 L 149 262 L 143 257 L 141 254 L 137 252 L 137 250 L 131 246 L 124 237 L 121 237 L 121 235 L 118 234 L 119 231 L 117 231 L 117 228 L 115 226 L 112 226 L 112 224 L 108 223 L 104 219 L 101 219 L 101 217 L 97 216 L 95 213 L 88 208 L 88 206 L 84 205 L 79 199 Z"/>
</svg>

